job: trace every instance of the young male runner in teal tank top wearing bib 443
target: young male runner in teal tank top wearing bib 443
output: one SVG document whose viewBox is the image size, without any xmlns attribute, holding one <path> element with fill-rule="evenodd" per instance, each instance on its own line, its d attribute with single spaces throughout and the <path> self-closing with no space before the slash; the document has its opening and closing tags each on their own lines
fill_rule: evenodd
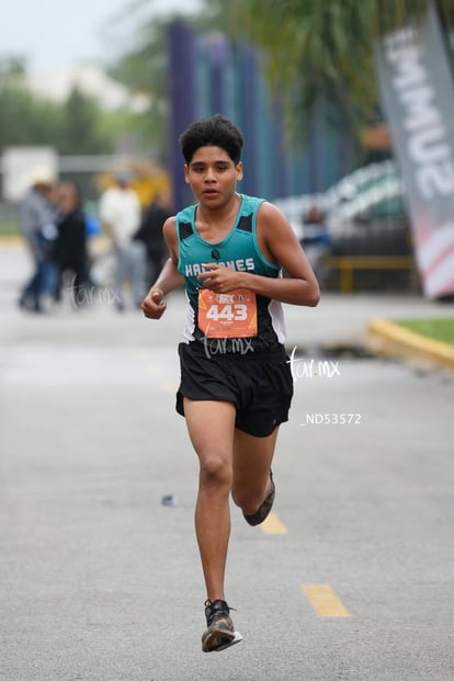
<svg viewBox="0 0 454 681">
<path fill-rule="evenodd" d="M 319 287 L 286 218 L 262 198 L 237 193 L 242 136 L 217 114 L 180 137 L 185 181 L 196 200 L 169 218 L 170 258 L 146 296 L 146 317 L 184 285 L 177 411 L 200 459 L 195 531 L 206 584 L 206 652 L 241 640 L 224 593 L 229 495 L 260 524 L 274 501 L 271 463 L 293 396 L 281 303 L 316 306 Z"/>
</svg>

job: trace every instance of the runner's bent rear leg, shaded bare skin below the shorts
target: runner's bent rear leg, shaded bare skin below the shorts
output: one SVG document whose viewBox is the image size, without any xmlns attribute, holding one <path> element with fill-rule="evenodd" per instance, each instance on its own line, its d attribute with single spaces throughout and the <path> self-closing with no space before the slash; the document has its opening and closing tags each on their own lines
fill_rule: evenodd
<svg viewBox="0 0 454 681">
<path fill-rule="evenodd" d="M 236 429 L 231 497 L 243 513 L 254 513 L 271 491 L 270 469 L 279 427 L 266 438 Z"/>
</svg>

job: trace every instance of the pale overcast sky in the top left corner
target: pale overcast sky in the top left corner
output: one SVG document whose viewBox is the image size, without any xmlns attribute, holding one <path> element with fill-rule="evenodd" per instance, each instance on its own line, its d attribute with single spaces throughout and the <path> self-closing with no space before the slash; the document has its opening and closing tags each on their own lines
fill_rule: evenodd
<svg viewBox="0 0 454 681">
<path fill-rule="evenodd" d="M 128 47 L 134 22 L 114 20 L 134 0 L 0 0 L 0 58 L 23 56 L 31 70 L 90 59 L 110 61 Z M 201 0 L 148 0 L 147 16 L 191 12 Z M 140 16 L 140 14 L 138 15 Z"/>
</svg>

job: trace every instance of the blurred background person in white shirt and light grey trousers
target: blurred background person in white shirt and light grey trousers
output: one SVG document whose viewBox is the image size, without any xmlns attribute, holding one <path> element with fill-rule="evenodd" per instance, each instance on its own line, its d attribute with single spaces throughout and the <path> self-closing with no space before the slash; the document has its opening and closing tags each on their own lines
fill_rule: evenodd
<svg viewBox="0 0 454 681">
<path fill-rule="evenodd" d="M 147 287 L 146 248 L 134 239 L 141 222 L 141 206 L 136 192 L 130 188 L 132 175 L 127 171 L 115 174 L 115 186 L 101 195 L 99 214 L 115 253 L 115 302 L 116 308 L 125 308 L 124 283 L 132 288 L 134 305 L 139 308 Z"/>
</svg>

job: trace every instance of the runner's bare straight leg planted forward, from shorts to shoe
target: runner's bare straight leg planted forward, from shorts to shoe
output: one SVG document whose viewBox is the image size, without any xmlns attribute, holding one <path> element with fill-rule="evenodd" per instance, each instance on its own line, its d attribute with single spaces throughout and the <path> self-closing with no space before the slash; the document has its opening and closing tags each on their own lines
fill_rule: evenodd
<svg viewBox="0 0 454 681">
<path fill-rule="evenodd" d="M 231 402 L 184 398 L 186 427 L 200 461 L 195 532 L 207 599 L 212 602 L 225 600 L 235 415 Z"/>
</svg>

